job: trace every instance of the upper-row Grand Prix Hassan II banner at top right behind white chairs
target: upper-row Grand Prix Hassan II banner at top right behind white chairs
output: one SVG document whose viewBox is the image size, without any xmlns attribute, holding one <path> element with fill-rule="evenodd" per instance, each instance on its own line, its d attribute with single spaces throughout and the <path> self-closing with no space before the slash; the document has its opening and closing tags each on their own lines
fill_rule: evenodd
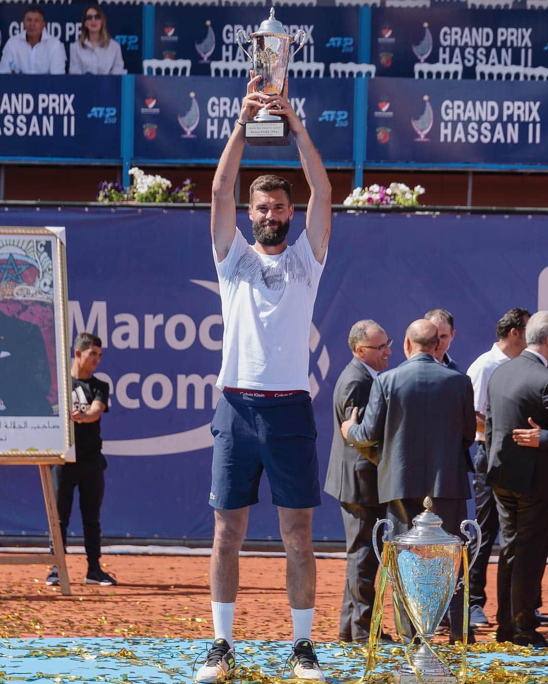
<svg viewBox="0 0 548 684">
<path fill-rule="evenodd" d="M 447 9 L 371 10 L 371 61 L 377 76 L 414 77 L 415 64 L 547 66 L 546 12 Z"/>
</svg>

